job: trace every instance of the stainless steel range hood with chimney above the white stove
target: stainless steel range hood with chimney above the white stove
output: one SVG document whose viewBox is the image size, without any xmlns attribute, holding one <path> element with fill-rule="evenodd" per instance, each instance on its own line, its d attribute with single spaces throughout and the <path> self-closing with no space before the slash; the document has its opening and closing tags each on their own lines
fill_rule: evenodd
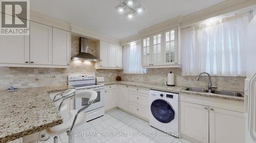
<svg viewBox="0 0 256 143">
<path fill-rule="evenodd" d="M 72 60 L 81 60 L 81 61 L 101 61 L 96 56 L 88 53 L 89 40 L 84 37 L 79 38 L 79 53 L 74 55 Z"/>
</svg>

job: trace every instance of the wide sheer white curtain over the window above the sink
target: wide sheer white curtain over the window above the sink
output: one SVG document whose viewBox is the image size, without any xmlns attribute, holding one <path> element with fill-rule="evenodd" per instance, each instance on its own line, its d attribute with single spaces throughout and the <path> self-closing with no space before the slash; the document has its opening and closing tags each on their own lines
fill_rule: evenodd
<svg viewBox="0 0 256 143">
<path fill-rule="evenodd" d="M 182 75 L 245 76 L 248 14 L 181 31 Z"/>
</svg>

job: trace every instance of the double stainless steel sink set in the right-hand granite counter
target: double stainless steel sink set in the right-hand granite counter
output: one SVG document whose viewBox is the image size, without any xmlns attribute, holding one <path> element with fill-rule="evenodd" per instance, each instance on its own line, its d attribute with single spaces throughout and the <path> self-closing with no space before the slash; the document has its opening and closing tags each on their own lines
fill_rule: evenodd
<svg viewBox="0 0 256 143">
<path fill-rule="evenodd" d="M 220 94 L 220 95 L 228 95 L 228 96 L 235 96 L 235 97 L 244 97 L 243 94 L 239 92 L 233 92 L 233 91 L 224 91 L 224 90 L 207 90 L 202 88 L 185 88 L 185 91 L 193 91 L 193 92 L 201 92 L 201 93 L 213 93 L 213 94 Z"/>
</svg>

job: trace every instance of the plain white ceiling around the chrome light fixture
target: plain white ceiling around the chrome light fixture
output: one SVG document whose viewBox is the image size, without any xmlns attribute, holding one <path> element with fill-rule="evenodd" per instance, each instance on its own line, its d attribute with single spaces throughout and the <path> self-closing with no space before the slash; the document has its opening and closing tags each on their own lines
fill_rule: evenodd
<svg viewBox="0 0 256 143">
<path fill-rule="evenodd" d="M 70 22 L 89 30 L 123 39 L 144 28 L 188 15 L 225 0 L 140 0 L 146 11 L 128 19 L 115 9 L 119 0 L 33 0 L 32 11 Z"/>
</svg>

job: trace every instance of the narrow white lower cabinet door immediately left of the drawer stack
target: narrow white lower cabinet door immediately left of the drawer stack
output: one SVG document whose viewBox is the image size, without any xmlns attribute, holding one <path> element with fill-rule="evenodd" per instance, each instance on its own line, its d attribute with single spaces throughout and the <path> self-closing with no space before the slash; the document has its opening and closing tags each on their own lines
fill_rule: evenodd
<svg viewBox="0 0 256 143">
<path fill-rule="evenodd" d="M 118 85 L 117 87 L 118 87 L 117 88 L 117 106 L 128 111 L 129 110 L 128 86 Z"/>
</svg>

